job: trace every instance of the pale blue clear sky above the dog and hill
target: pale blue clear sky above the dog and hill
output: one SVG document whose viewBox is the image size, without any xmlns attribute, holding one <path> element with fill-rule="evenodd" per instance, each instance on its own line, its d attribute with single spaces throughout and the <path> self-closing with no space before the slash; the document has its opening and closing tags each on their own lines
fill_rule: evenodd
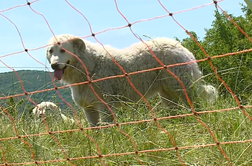
<svg viewBox="0 0 252 166">
<path fill-rule="evenodd" d="M 177 37 L 180 40 L 189 37 L 174 19 L 188 31 L 196 32 L 202 39 L 205 29 L 211 28 L 215 10 L 213 0 L 30 2 L 28 6 L 26 0 L 0 1 L 0 73 L 13 70 L 52 71 L 46 60 L 45 46 L 53 34 L 72 34 L 96 42 L 90 36 L 92 29 L 93 33 L 98 33 L 95 35 L 97 40 L 105 45 L 125 48 L 139 42 L 130 28 L 120 28 L 128 23 L 117 7 L 132 24 L 132 31 L 144 40 L 148 40 L 146 36 Z M 159 2 L 174 13 L 174 19 Z M 243 0 L 219 0 L 218 5 L 227 13 L 239 16 L 242 15 L 240 3 L 245 4 Z"/>
</svg>

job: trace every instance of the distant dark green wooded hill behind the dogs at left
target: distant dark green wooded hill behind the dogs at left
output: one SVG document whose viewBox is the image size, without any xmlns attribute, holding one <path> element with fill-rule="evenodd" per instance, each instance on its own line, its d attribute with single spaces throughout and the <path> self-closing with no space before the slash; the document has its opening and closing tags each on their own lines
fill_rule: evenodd
<svg viewBox="0 0 252 166">
<path fill-rule="evenodd" d="M 20 70 L 17 71 L 17 74 L 22 80 L 24 89 L 27 92 L 50 89 L 54 87 L 50 72 L 38 70 Z M 24 93 L 17 74 L 15 72 L 0 73 L 0 97 Z M 56 81 L 56 85 L 62 86 L 59 81 Z M 73 103 L 69 88 L 61 89 L 59 92 L 67 102 Z M 36 103 L 40 103 L 42 101 L 53 101 L 61 106 L 65 105 L 55 90 L 32 94 L 29 95 L 29 97 Z M 29 102 L 26 96 L 13 98 L 15 102 L 18 102 L 21 99 Z M 0 100 L 0 103 L 5 105 L 7 101 L 8 100 Z"/>
</svg>

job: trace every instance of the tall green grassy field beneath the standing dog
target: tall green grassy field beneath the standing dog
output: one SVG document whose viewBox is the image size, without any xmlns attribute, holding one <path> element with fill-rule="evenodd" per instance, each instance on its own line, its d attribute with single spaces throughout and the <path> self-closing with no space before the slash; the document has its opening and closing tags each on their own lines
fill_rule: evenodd
<svg viewBox="0 0 252 166">
<path fill-rule="evenodd" d="M 216 145 L 209 130 L 199 123 L 195 115 L 185 116 L 192 112 L 183 107 L 167 108 L 155 105 L 151 101 L 158 127 L 149 108 L 145 104 L 130 104 L 117 110 L 119 127 L 108 127 L 100 130 L 86 129 L 88 124 L 82 111 L 78 111 L 79 125 L 63 122 L 57 113 L 46 115 L 46 124 L 42 119 L 15 118 L 14 123 L 20 136 L 17 138 L 13 123 L 8 115 L 0 118 L 0 165 L 6 163 L 26 163 L 35 165 L 252 165 L 251 142 L 234 142 L 252 139 L 252 121 L 240 109 L 202 113 L 198 119 L 213 132 L 220 147 Z M 198 112 L 221 110 L 237 107 L 234 99 L 219 99 L 215 105 L 195 104 Z M 18 110 L 17 110 L 18 111 Z M 20 110 L 19 110 L 20 111 Z M 67 116 L 71 116 L 64 110 Z M 252 109 L 245 111 L 252 116 Z M 176 117 L 176 115 L 184 115 Z M 173 117 L 175 116 L 175 117 Z M 138 122 L 135 124 L 125 122 Z M 52 132 L 48 134 L 48 129 Z M 74 130 L 65 132 L 66 130 Z M 57 132 L 63 131 L 63 132 Z M 35 134 L 35 135 L 33 135 Z M 40 136 L 36 134 L 41 134 Z M 172 141 L 174 139 L 174 141 Z M 13 138 L 12 138 L 13 137 Z M 174 148 L 176 143 L 178 150 Z M 227 142 L 228 144 L 222 144 Z M 229 143 L 230 142 L 230 143 Z M 204 145 L 206 145 L 204 147 Z M 138 153 L 135 153 L 138 151 Z M 102 157 L 97 157 L 99 154 Z M 181 159 L 179 159 L 179 157 Z M 70 160 L 67 160 L 67 157 Z"/>
</svg>

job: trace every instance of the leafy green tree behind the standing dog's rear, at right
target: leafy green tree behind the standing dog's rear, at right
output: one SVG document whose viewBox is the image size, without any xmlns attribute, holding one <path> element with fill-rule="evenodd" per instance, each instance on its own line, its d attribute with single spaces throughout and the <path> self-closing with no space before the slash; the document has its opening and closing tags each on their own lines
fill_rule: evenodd
<svg viewBox="0 0 252 166">
<path fill-rule="evenodd" d="M 252 35 L 252 14 L 251 11 L 243 6 L 242 11 L 244 16 L 228 15 L 234 22 L 245 31 L 248 36 Z M 218 9 L 215 11 L 215 20 L 210 29 L 205 29 L 206 34 L 202 41 L 200 41 L 195 32 L 191 34 L 199 41 L 206 53 L 212 57 L 215 55 L 222 55 L 226 53 L 238 52 L 250 49 L 252 43 L 250 40 L 237 28 L 223 13 Z M 206 55 L 196 44 L 192 38 L 183 39 L 182 45 L 194 53 L 196 59 L 205 58 Z M 218 74 L 228 84 L 228 86 L 235 92 L 236 95 L 243 99 L 250 96 L 252 90 L 251 76 L 252 71 L 252 53 L 240 53 L 232 56 L 212 59 L 212 62 Z M 203 69 L 204 75 L 213 73 L 209 63 L 199 63 Z M 226 95 L 228 91 L 222 86 L 214 75 L 206 77 L 205 80 L 219 86 L 221 94 Z"/>
</svg>

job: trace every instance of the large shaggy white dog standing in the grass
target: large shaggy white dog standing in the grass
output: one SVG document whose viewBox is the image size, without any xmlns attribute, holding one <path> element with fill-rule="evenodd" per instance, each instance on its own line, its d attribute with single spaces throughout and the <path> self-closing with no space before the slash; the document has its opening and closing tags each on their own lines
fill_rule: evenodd
<svg viewBox="0 0 252 166">
<path fill-rule="evenodd" d="M 165 65 L 195 60 L 193 54 L 175 40 L 157 38 L 145 43 Z M 110 55 L 123 67 L 126 73 L 161 66 L 142 42 L 125 49 L 116 49 L 110 46 L 105 46 L 105 48 L 106 50 L 98 44 L 84 42 L 72 35 L 59 35 L 49 41 L 47 59 L 54 68 L 55 65 L 57 65 L 57 69 L 65 68 L 61 81 L 66 84 L 87 81 L 85 69 L 75 56 L 85 64 L 93 80 L 123 74 L 112 61 Z M 64 52 L 64 50 L 67 51 Z M 202 76 L 196 62 L 168 69 L 183 82 L 190 98 L 195 90 L 196 94 L 198 93 L 197 89 L 200 89 L 198 95 L 209 102 L 217 97 L 217 93 L 215 93 L 217 91 L 213 86 L 204 85 L 203 81 L 196 81 L 200 80 Z M 159 94 L 168 100 L 177 102 L 182 99 L 187 103 L 181 84 L 166 69 L 130 75 L 129 79 L 146 98 Z M 112 108 L 119 103 L 118 101 L 137 102 L 141 100 L 141 96 L 132 88 L 126 77 L 107 79 L 92 83 L 92 85 L 99 97 Z M 212 88 L 206 88 L 208 86 Z M 102 121 L 113 121 L 110 111 L 93 93 L 90 85 L 71 86 L 71 92 L 76 104 L 84 109 L 91 126 L 96 126 L 99 118 Z"/>
</svg>

